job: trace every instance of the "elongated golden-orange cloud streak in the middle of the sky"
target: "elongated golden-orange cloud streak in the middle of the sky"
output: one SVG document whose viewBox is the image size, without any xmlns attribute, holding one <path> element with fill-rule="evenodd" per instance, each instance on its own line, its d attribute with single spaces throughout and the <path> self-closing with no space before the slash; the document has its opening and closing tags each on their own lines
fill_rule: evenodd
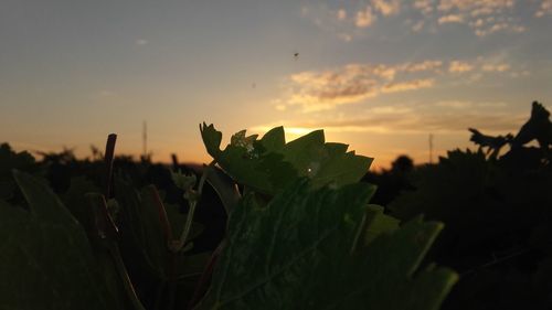
<svg viewBox="0 0 552 310">
<path fill-rule="evenodd" d="M 458 81 L 457 76 L 463 74 L 470 75 L 461 83 L 470 84 L 488 75 L 522 76 L 520 72 L 521 68 L 508 63 L 506 53 L 467 61 L 348 64 L 323 71 L 305 71 L 288 77 L 278 109 L 295 106 L 304 113 L 328 110 L 381 95 L 436 87 L 443 78 Z"/>
</svg>

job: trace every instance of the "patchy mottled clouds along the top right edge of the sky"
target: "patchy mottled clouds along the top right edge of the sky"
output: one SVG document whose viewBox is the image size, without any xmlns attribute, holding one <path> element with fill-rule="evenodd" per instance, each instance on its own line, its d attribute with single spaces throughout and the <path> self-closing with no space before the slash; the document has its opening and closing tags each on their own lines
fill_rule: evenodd
<svg viewBox="0 0 552 310">
<path fill-rule="evenodd" d="M 367 0 L 360 2 L 316 2 L 302 7 L 304 17 L 343 41 L 352 41 L 385 19 L 402 15 L 410 31 L 438 31 L 439 26 L 466 26 L 475 35 L 528 31 L 520 10 L 534 17 L 552 15 L 552 0 Z M 332 7 L 333 6 L 333 7 Z M 416 13 L 417 12 L 417 13 Z"/>
</svg>

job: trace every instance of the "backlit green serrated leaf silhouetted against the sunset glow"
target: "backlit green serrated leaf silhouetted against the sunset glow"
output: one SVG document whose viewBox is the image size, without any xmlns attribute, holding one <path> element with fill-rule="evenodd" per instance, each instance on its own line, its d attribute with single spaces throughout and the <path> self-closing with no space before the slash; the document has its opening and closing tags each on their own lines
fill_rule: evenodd
<svg viewBox="0 0 552 310">
<path fill-rule="evenodd" d="M 284 128 L 276 127 L 257 140 L 242 130 L 220 149 L 222 133 L 213 125 L 200 126 L 205 148 L 236 182 L 264 194 L 276 194 L 298 177 L 308 177 L 315 186 L 338 186 L 358 182 L 372 159 L 347 152 L 347 145 L 326 143 L 322 130 L 288 143 Z"/>
</svg>

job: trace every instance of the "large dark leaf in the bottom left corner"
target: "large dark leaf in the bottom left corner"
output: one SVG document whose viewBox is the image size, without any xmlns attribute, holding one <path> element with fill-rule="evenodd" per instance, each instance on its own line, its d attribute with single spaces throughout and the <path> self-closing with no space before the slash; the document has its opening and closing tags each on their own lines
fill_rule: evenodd
<svg viewBox="0 0 552 310">
<path fill-rule="evenodd" d="M 42 182 L 13 174 L 29 211 L 0 201 L 0 308 L 123 309 L 81 224 Z"/>
</svg>

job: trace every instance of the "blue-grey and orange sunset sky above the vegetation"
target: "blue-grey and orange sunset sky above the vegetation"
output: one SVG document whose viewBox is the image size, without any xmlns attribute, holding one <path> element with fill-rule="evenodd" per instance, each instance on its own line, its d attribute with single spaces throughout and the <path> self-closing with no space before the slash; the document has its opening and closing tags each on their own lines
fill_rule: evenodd
<svg viewBox="0 0 552 310">
<path fill-rule="evenodd" d="M 209 162 L 199 124 L 323 129 L 389 167 L 552 107 L 552 0 L 0 0 L 0 141 Z"/>
</svg>

